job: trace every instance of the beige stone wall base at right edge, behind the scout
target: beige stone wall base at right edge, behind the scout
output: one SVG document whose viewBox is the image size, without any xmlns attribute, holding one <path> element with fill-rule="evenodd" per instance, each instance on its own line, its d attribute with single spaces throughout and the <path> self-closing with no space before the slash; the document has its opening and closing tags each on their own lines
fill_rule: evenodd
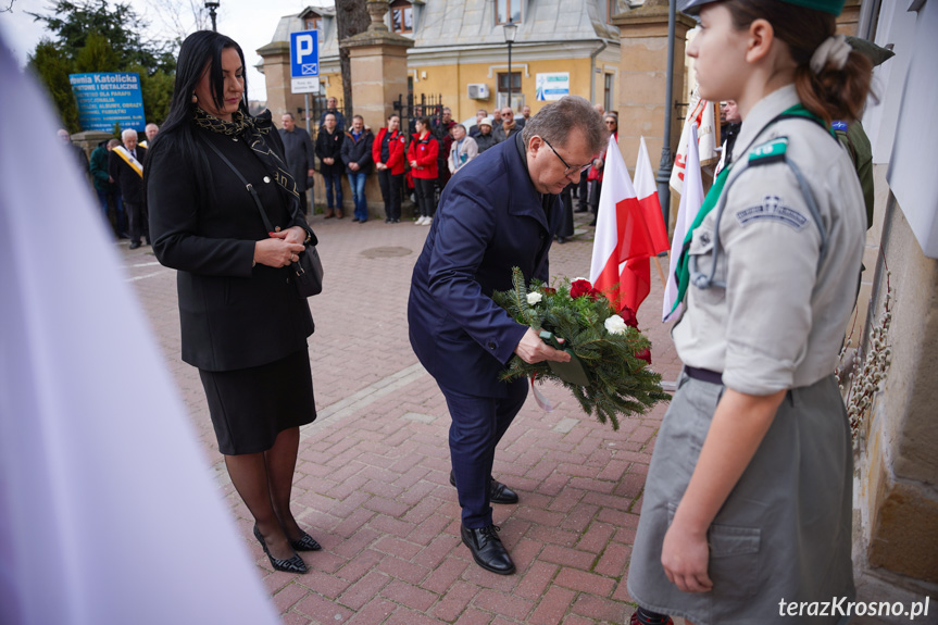
<svg viewBox="0 0 938 625">
<path fill-rule="evenodd" d="M 925 257 L 898 204 L 886 221 L 883 249 L 893 289 L 888 337 L 892 359 L 868 417 L 861 464 L 861 505 L 868 532 L 863 538 L 871 566 L 938 584 L 938 260 Z M 884 276 L 880 291 L 885 287 Z"/>
</svg>

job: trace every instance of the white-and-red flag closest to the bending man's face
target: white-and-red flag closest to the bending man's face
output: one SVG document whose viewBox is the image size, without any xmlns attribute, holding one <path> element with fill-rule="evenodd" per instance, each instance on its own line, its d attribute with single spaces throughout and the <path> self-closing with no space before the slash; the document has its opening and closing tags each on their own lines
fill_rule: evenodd
<svg viewBox="0 0 938 625">
<path fill-rule="evenodd" d="M 638 311 L 651 288 L 654 243 L 615 137 L 609 138 L 604 172 L 589 280 L 617 311 Z"/>
</svg>

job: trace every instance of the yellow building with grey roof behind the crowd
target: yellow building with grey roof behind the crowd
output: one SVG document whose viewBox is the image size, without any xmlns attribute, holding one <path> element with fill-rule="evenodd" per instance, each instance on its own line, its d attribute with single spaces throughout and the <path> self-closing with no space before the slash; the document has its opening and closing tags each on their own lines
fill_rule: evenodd
<svg viewBox="0 0 938 625">
<path fill-rule="evenodd" d="M 462 121 L 478 109 L 506 105 L 509 88 L 516 112 L 529 105 L 535 114 L 564 89 L 615 110 L 620 35 L 612 16 L 618 9 L 617 0 L 391 0 L 385 24 L 414 41 L 408 51 L 408 90 L 417 100 L 439 98 Z M 508 23 L 517 26 L 511 72 Z M 304 98 L 290 93 L 289 76 L 271 60 L 289 53 L 290 33 L 311 29 L 320 37 L 321 96 L 342 98 L 335 9 L 309 7 L 282 17 L 271 43 L 258 50 L 264 58 L 260 68 L 267 107 L 275 114 L 303 109 Z M 538 85 L 553 88 L 539 95 Z M 365 122 L 384 125 L 384 120 Z"/>
</svg>

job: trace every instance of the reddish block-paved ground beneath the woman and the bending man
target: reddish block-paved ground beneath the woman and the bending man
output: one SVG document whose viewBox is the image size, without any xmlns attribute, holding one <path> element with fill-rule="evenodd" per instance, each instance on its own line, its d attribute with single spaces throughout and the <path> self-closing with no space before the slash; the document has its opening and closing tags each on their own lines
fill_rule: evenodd
<svg viewBox="0 0 938 625">
<path fill-rule="evenodd" d="M 577 215 L 576 238 L 554 243 L 552 276 L 588 275 L 592 228 L 583 225 L 585 216 Z M 626 622 L 634 610 L 625 584 L 629 554 L 666 407 L 623 420 L 613 432 L 559 386 L 542 387 L 559 404 L 552 413 L 529 396 L 495 465 L 495 475 L 521 496 L 517 505 L 495 507 L 517 573 L 483 571 L 459 538 L 446 403 L 408 341 L 411 270 L 428 228 L 408 221 L 310 221 L 326 288 L 310 300 L 318 418 L 302 429 L 293 511 L 324 549 L 303 554 L 311 572 L 302 576 L 274 572 L 251 536 L 198 373 L 179 360 L 175 272 L 161 266 L 149 247 L 130 251 L 121 243 L 128 280 L 284 623 Z M 679 363 L 659 322 L 655 273 L 639 318 L 653 343 L 655 370 L 674 380 Z"/>
</svg>

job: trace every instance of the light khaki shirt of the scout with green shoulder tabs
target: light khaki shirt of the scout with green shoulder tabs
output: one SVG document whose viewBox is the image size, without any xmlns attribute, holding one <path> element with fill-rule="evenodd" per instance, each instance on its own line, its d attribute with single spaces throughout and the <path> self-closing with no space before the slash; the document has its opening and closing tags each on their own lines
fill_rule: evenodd
<svg viewBox="0 0 938 625">
<path fill-rule="evenodd" d="M 795 86 L 783 87 L 743 121 L 720 222 L 714 279 L 726 287 L 691 282 L 687 310 L 672 330 L 685 364 L 723 372 L 727 388 L 749 395 L 808 386 L 834 372 L 863 254 L 863 195 L 843 149 L 808 120 L 763 130 L 798 102 Z M 823 259 L 821 230 L 791 168 L 741 167 L 754 148 L 778 137 L 788 138 L 787 158 L 813 190 L 828 237 Z M 689 250 L 706 275 L 716 213 L 693 232 Z"/>
</svg>

